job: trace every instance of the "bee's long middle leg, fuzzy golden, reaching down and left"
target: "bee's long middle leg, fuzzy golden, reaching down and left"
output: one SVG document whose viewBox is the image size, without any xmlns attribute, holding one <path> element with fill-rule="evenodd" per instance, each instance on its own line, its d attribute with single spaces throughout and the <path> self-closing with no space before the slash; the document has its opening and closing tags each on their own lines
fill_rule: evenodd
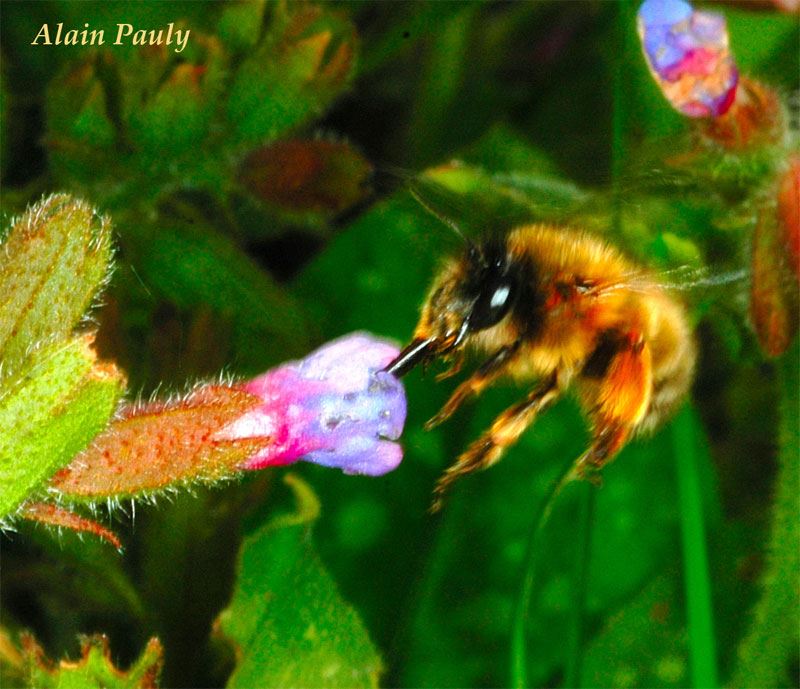
<svg viewBox="0 0 800 689">
<path fill-rule="evenodd" d="M 489 430 L 473 442 L 455 464 L 442 474 L 434 489 L 431 511 L 439 510 L 442 497 L 460 476 L 479 469 L 487 469 L 499 461 L 505 449 L 513 445 L 536 417 L 558 398 L 561 390 L 558 374 L 553 373 L 524 400 L 500 414 Z"/>
</svg>

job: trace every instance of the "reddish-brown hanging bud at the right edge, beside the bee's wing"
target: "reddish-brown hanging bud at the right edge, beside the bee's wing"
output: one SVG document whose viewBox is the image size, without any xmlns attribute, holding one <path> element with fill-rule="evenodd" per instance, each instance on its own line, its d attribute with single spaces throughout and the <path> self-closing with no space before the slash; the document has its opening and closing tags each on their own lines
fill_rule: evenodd
<svg viewBox="0 0 800 689">
<path fill-rule="evenodd" d="M 789 267 L 789 255 L 780 236 L 775 207 L 759 212 L 753 236 L 753 277 L 750 312 L 761 348 L 779 356 L 798 327 L 798 281 Z"/>
</svg>

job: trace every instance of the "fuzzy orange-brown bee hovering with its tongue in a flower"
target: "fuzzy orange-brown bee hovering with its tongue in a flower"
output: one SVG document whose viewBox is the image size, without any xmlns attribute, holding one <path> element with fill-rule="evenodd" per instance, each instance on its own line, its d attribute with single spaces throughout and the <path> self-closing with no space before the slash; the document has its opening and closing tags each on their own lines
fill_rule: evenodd
<svg viewBox="0 0 800 689">
<path fill-rule="evenodd" d="M 531 383 L 441 476 L 435 511 L 454 481 L 502 457 L 537 416 L 575 389 L 591 442 L 572 478 L 598 472 L 631 439 L 675 410 L 697 350 L 687 312 L 654 274 L 590 234 L 546 224 L 468 242 L 447 260 L 422 305 L 413 339 L 386 370 L 402 376 L 442 358 L 456 373 L 466 351 L 486 360 L 427 429 L 502 376 Z"/>
</svg>

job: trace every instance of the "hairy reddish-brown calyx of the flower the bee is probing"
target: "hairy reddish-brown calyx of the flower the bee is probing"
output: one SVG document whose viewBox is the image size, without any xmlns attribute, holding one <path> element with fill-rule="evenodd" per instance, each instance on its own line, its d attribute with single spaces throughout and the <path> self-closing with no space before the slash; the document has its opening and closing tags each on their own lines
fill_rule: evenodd
<svg viewBox="0 0 800 689">
<path fill-rule="evenodd" d="M 270 439 L 213 436 L 260 402 L 239 389 L 206 386 L 183 399 L 129 407 L 53 477 L 50 487 L 63 497 L 92 501 L 231 476 Z"/>
</svg>

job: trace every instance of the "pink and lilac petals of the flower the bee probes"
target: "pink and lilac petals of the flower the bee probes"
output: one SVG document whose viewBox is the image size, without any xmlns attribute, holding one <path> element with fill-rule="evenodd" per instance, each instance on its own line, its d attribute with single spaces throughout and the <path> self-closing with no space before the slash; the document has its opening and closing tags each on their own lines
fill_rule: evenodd
<svg viewBox="0 0 800 689">
<path fill-rule="evenodd" d="M 398 349 L 364 333 L 334 340 L 300 361 L 274 368 L 241 387 L 262 400 L 215 440 L 270 438 L 242 469 L 305 460 L 347 474 L 379 476 L 400 463 L 403 386 L 383 369 Z"/>
</svg>

